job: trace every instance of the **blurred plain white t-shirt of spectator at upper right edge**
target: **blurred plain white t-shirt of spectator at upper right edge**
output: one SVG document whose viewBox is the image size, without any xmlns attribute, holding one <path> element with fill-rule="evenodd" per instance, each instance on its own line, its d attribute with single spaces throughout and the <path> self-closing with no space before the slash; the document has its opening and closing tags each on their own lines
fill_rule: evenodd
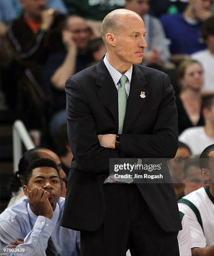
<svg viewBox="0 0 214 256">
<path fill-rule="evenodd" d="M 209 50 L 198 51 L 191 59 L 199 61 L 204 68 L 204 91 L 214 91 L 214 55 Z"/>
</svg>

